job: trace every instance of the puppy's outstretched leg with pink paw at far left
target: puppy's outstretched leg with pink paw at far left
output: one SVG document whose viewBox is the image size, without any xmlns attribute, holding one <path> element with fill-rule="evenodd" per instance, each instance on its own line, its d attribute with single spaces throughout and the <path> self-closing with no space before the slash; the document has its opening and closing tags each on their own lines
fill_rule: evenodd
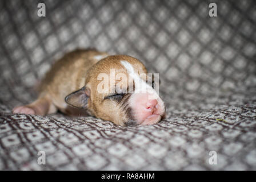
<svg viewBox="0 0 256 182">
<path fill-rule="evenodd" d="M 45 115 L 55 113 L 57 107 L 48 96 L 39 97 L 31 104 L 14 107 L 13 113 Z"/>
</svg>

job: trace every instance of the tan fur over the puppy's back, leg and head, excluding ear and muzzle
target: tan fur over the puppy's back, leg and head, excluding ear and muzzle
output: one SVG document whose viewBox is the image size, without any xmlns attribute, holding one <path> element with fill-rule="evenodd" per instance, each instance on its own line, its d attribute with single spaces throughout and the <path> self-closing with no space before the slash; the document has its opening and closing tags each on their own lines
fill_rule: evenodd
<svg viewBox="0 0 256 182">
<path fill-rule="evenodd" d="M 97 55 L 107 57 L 98 61 L 94 59 L 94 56 Z M 99 73 L 110 75 L 110 69 L 114 68 L 115 75 L 117 73 L 125 73 L 128 76 L 126 68 L 120 64 L 121 60 L 129 61 L 133 65 L 134 71 L 138 74 L 147 73 L 145 66 L 138 59 L 131 56 L 108 56 L 107 53 L 94 49 L 76 50 L 67 53 L 53 64 L 42 80 L 42 84 L 39 87 L 38 100 L 23 107 L 33 108 L 35 114 L 41 115 L 54 113 L 57 109 L 71 115 L 84 114 L 84 109 L 75 109 L 67 105 L 65 97 L 85 86 L 85 92 L 90 93 L 90 97 L 87 100 L 87 110 L 91 115 L 112 121 L 117 125 L 125 125 L 124 123 L 127 121 L 125 101 L 117 104 L 113 100 L 104 99 L 109 92 L 97 92 L 97 85 L 100 82 L 97 80 Z M 127 88 L 130 84 L 134 84 L 133 81 L 127 83 Z M 125 97 L 127 98 L 123 98 L 123 100 L 128 99 L 129 94 Z M 36 107 L 41 107 L 41 110 L 35 109 Z"/>
</svg>

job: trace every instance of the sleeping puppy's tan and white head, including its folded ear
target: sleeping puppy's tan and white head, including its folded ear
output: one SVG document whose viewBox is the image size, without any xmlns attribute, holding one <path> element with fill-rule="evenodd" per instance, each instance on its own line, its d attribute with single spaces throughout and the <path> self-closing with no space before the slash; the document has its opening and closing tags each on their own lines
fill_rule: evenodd
<svg viewBox="0 0 256 182">
<path fill-rule="evenodd" d="M 131 56 L 108 56 L 93 65 L 85 86 L 66 102 L 117 125 L 151 125 L 161 120 L 165 105 L 145 66 Z"/>
</svg>

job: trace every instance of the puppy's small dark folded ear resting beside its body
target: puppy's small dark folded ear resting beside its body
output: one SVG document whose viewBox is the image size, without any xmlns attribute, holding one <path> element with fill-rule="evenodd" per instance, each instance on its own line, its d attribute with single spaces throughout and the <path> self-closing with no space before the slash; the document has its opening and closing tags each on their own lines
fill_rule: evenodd
<svg viewBox="0 0 256 182">
<path fill-rule="evenodd" d="M 86 108 L 88 104 L 88 98 L 90 96 L 90 90 L 86 89 L 85 86 L 83 88 L 69 94 L 65 97 L 65 101 L 67 104 L 78 107 L 78 108 Z"/>
</svg>

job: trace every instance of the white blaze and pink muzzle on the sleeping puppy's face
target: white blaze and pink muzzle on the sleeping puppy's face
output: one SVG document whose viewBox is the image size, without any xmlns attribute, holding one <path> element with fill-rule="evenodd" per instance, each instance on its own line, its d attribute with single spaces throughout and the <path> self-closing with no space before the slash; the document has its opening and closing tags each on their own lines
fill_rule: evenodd
<svg viewBox="0 0 256 182">
<path fill-rule="evenodd" d="M 165 113 L 163 101 L 157 92 L 139 77 L 138 73 L 135 73 L 133 65 L 126 60 L 122 60 L 121 64 L 134 80 L 135 89 L 129 100 L 134 117 L 139 123 L 153 124 L 158 122 L 161 119 L 159 115 Z"/>
</svg>

